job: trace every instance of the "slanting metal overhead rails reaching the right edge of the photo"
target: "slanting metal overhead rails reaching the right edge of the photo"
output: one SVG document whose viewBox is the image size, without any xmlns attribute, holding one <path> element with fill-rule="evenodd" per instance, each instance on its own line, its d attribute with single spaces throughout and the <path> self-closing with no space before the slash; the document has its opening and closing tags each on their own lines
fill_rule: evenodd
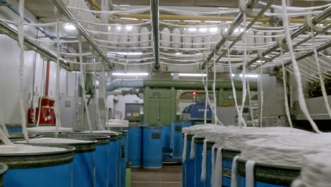
<svg viewBox="0 0 331 187">
<path fill-rule="evenodd" d="M 322 13 L 318 14 L 317 16 L 315 16 L 312 20 L 312 23 L 314 25 L 322 22 L 325 18 L 328 18 L 329 16 L 331 16 L 331 7 L 326 8 Z M 326 28 L 324 28 L 324 30 L 328 30 L 330 28 L 330 26 L 327 26 Z M 298 30 L 294 30 L 294 32 L 291 33 L 291 38 L 294 39 L 296 37 L 298 37 L 298 35 L 301 35 L 303 33 L 305 33 L 307 30 L 309 30 L 309 27 L 307 26 L 306 23 L 303 24 L 303 26 L 301 26 L 300 28 L 298 28 Z M 319 35 L 320 33 L 316 32 L 315 35 Z M 306 42 L 308 40 L 310 40 L 311 36 L 309 36 L 308 38 L 303 39 L 301 42 L 296 43 L 296 45 L 294 45 L 293 47 L 298 47 L 299 45 L 303 44 L 303 42 Z M 286 44 L 287 40 L 286 37 L 284 36 L 284 38 L 281 39 L 281 41 Z M 264 50 L 261 54 L 263 57 L 265 57 L 266 55 L 269 55 L 270 53 L 276 51 L 279 48 L 279 44 L 276 43 L 274 45 L 272 45 L 272 47 L 269 47 L 269 49 Z M 287 52 L 288 50 L 284 50 L 284 52 Z M 280 55 L 280 54 L 279 54 Z M 274 60 L 274 58 L 279 57 L 279 55 L 276 55 L 272 58 L 270 58 L 270 60 Z M 260 60 L 260 56 L 257 55 L 257 57 L 255 57 L 254 59 L 250 60 L 248 62 L 248 66 L 250 64 L 253 64 L 254 62 L 256 62 L 257 60 Z M 265 64 L 267 62 L 263 62 L 261 64 L 259 64 L 257 67 L 260 67 L 261 65 Z M 252 69 L 256 69 L 257 67 L 254 67 Z"/>
</svg>

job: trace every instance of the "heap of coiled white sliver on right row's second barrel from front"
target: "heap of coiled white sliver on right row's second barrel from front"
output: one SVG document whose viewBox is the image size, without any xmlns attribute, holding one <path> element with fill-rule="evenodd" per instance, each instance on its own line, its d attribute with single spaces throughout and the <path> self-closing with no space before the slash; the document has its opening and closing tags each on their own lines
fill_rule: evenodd
<svg viewBox="0 0 331 187">
<path fill-rule="evenodd" d="M 308 154 L 331 148 L 331 134 L 282 135 L 245 142 L 240 158 L 260 164 L 303 166 Z"/>
</svg>

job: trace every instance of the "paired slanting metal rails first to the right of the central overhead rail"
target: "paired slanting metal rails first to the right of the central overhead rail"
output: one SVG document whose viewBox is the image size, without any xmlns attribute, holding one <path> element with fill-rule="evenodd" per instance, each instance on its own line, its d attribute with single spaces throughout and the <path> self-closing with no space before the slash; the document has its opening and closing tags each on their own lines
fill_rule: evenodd
<svg viewBox="0 0 331 187">
<path fill-rule="evenodd" d="M 268 1 L 267 5 L 264 6 L 262 8 L 262 10 L 257 13 L 257 15 L 254 15 L 255 18 L 248 24 L 248 26 L 246 26 L 246 31 L 248 29 L 250 29 L 254 23 L 261 17 L 263 16 L 263 13 L 265 13 L 265 11 L 267 11 L 270 6 L 272 6 L 272 2 L 274 0 L 270 0 Z M 245 2 L 245 1 L 241 1 L 241 2 Z M 252 8 L 254 8 L 254 6 L 257 4 L 258 0 L 252 0 L 252 1 L 248 1 L 248 3 L 246 4 L 246 10 L 251 11 Z M 219 50 L 221 49 L 221 47 L 226 43 L 226 41 L 229 39 L 229 37 L 232 37 L 231 35 L 233 34 L 233 32 L 236 30 L 236 28 L 238 28 L 238 26 L 240 26 L 240 23 L 243 22 L 243 10 L 240 11 L 240 13 L 238 14 L 238 16 L 236 17 L 236 19 L 233 21 L 233 23 L 231 23 L 231 26 L 228 28 L 228 30 L 224 33 L 225 35 L 228 36 L 227 37 L 223 37 L 222 40 L 220 40 L 219 42 L 217 42 L 214 50 L 211 52 L 211 54 L 207 57 L 207 60 L 204 60 L 204 62 L 201 65 L 201 68 L 204 69 L 206 68 L 207 64 L 209 63 L 209 61 L 214 57 L 214 55 L 219 55 L 219 57 L 216 60 L 216 63 L 219 62 L 219 60 L 221 59 L 221 57 L 223 57 L 224 55 L 226 55 L 227 50 L 223 50 L 223 52 L 221 54 L 217 54 L 217 52 L 219 52 Z M 223 34 L 223 36 L 224 36 Z M 228 49 L 231 49 L 231 47 L 233 47 L 233 45 L 236 44 L 236 42 L 240 41 L 241 38 L 243 37 L 244 32 L 241 32 L 240 35 L 236 36 L 236 38 L 234 38 L 233 42 L 231 43 L 231 45 L 229 45 Z M 232 40 L 232 39 L 231 39 Z M 211 65 L 212 67 L 212 65 Z M 209 68 L 211 68 L 209 67 Z"/>
</svg>

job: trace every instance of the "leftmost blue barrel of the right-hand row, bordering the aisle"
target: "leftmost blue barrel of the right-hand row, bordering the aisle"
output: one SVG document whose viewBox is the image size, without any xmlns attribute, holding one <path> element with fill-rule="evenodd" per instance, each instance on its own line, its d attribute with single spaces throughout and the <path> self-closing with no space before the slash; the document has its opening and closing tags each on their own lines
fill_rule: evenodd
<svg viewBox="0 0 331 187">
<path fill-rule="evenodd" d="M 182 184 L 184 187 L 194 186 L 194 159 L 190 159 L 193 135 L 187 135 L 186 159 L 182 163 Z"/>
</svg>

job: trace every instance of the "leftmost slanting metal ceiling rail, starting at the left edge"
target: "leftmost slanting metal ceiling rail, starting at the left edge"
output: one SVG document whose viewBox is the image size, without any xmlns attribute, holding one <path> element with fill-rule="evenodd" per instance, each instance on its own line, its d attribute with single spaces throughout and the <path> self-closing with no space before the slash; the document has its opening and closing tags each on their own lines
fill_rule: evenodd
<svg viewBox="0 0 331 187">
<path fill-rule="evenodd" d="M 1 32 L 8 35 L 13 40 L 18 41 L 18 31 L 11 28 L 11 26 L 9 26 L 4 21 L 0 21 L 0 33 Z M 32 50 L 35 50 L 35 52 L 39 53 L 43 57 L 46 57 L 47 60 L 57 62 L 57 55 L 52 54 L 50 52 L 50 50 L 47 50 L 44 47 L 38 45 L 37 43 L 33 42 L 32 40 L 30 40 L 26 36 L 24 36 L 24 41 L 23 42 L 24 42 L 25 46 L 30 47 Z M 59 62 L 60 62 L 60 67 L 70 71 L 69 64 L 68 64 L 68 62 L 66 62 L 66 60 L 60 58 Z"/>
</svg>

